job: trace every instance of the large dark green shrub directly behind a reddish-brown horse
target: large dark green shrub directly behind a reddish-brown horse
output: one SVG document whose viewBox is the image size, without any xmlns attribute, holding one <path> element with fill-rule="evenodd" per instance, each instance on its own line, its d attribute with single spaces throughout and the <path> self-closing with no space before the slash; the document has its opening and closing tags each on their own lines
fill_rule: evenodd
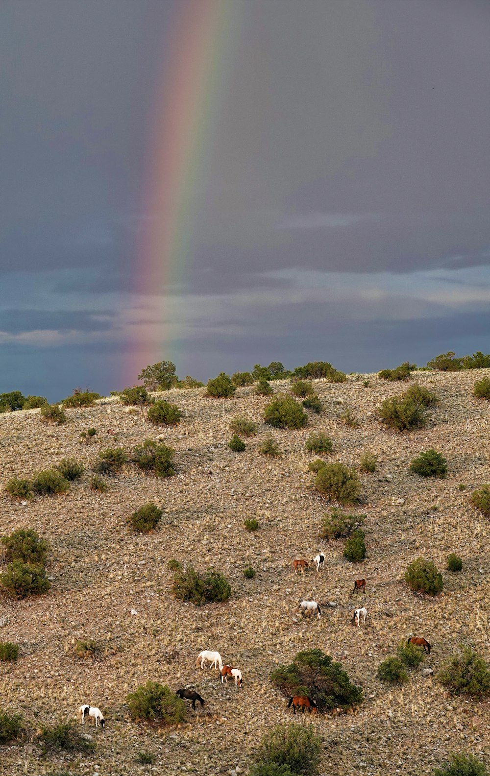
<svg viewBox="0 0 490 776">
<path fill-rule="evenodd" d="M 280 665 L 270 680 L 290 698 L 291 695 L 308 695 L 315 700 L 319 712 L 332 708 L 348 708 L 360 703 L 363 690 L 349 680 L 341 663 L 321 650 L 299 652 L 289 666 Z"/>
</svg>

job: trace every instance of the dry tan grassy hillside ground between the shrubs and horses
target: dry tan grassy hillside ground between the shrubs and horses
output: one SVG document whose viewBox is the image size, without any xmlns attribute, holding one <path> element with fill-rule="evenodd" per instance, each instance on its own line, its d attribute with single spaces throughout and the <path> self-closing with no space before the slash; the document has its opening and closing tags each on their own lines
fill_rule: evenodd
<svg viewBox="0 0 490 776">
<path fill-rule="evenodd" d="M 0 664 L 2 705 L 44 722 L 51 708 L 65 717 L 81 702 L 103 708 L 107 729 L 95 734 L 96 754 L 78 760 L 75 770 L 81 774 L 92 774 L 96 762 L 102 774 L 151 771 L 134 764 L 142 749 L 157 754 L 157 773 L 226 774 L 237 765 L 246 770 L 262 734 L 290 719 L 285 699 L 269 684 L 269 671 L 298 650 L 319 646 L 343 660 L 366 692 L 356 715 L 313 718 L 324 740 L 322 770 L 346 776 L 360 769 L 384 776 L 420 774 L 451 750 L 490 755 L 487 703 L 444 698 L 440 685 L 423 679 L 419 670 L 395 691 L 376 679 L 377 664 L 411 634 L 433 643 L 423 666 L 435 670 L 461 641 L 474 642 L 490 657 L 488 530 L 469 506 L 471 491 L 490 480 L 488 404 L 471 394 L 484 375 L 484 370 L 418 373 L 415 379 L 436 390 L 440 404 L 426 428 L 408 435 L 382 429 L 375 415 L 381 400 L 403 386 L 374 376 L 370 388 L 353 377 L 341 385 L 318 381 L 324 414 L 310 414 L 301 431 L 274 431 L 284 455 L 273 460 L 257 453 L 268 431 L 261 421 L 268 400 L 249 389 L 238 389 L 232 400 L 207 399 L 203 389 L 166 393 L 186 417 L 162 431 L 112 400 L 68 411 L 69 422 L 61 428 L 44 426 L 38 411 L 0 415 L 2 483 L 65 456 L 89 468 L 108 444 L 107 428 L 117 431 L 128 451 L 144 438 L 161 437 L 175 448 L 179 467 L 178 476 L 162 481 L 127 466 L 104 495 L 89 490 L 87 471 L 67 495 L 38 498 L 26 507 L 2 490 L 2 534 L 33 527 L 46 536 L 52 546 L 48 570 L 55 577 L 50 594 L 40 598 L 12 601 L 0 594 L 0 618 L 8 621 L 0 638 L 22 645 L 22 659 L 13 667 Z M 359 428 L 339 421 L 346 406 L 353 408 Z M 235 414 L 259 421 L 259 435 L 242 454 L 227 448 Z M 99 431 L 99 441 L 80 445 L 79 432 L 90 426 Z M 343 559 L 342 542 L 325 546 L 319 539 L 328 504 L 315 494 L 307 472 L 304 441 L 311 430 L 331 435 L 333 459 L 356 465 L 363 451 L 379 456 L 377 472 L 362 475 L 366 503 L 360 511 L 367 512 L 368 548 L 362 566 Z M 447 480 L 409 473 L 413 456 L 429 447 L 447 456 Z M 460 483 L 467 489 L 459 490 Z M 148 501 L 164 510 L 162 530 L 130 535 L 127 514 Z M 247 516 L 259 518 L 255 535 L 244 532 Z M 311 558 L 319 549 L 325 549 L 325 572 L 295 577 L 293 559 Z M 401 579 L 408 562 L 423 555 L 442 570 L 452 551 L 463 557 L 464 568 L 444 574 L 437 600 L 422 600 L 406 589 Z M 231 601 L 202 608 L 175 601 L 169 594 L 170 558 L 190 559 L 202 570 L 217 566 L 231 581 Z M 243 577 L 248 564 L 257 570 L 254 580 Z M 356 603 L 350 591 L 361 573 L 367 577 L 371 622 L 358 630 L 349 626 Z M 292 609 L 310 597 L 337 605 L 325 606 L 321 622 L 297 622 Z M 133 608 L 137 616 L 130 615 Z M 106 639 L 119 651 L 102 662 L 80 662 L 71 650 L 82 637 Z M 225 661 L 242 668 L 242 691 L 195 668 L 202 649 L 218 649 Z M 194 684 L 207 700 L 207 715 L 189 711 L 189 724 L 162 733 L 134 725 L 124 699 L 148 679 L 172 688 Z M 9 774 L 41 774 L 63 762 L 39 758 L 38 747 L 2 748 Z"/>
</svg>

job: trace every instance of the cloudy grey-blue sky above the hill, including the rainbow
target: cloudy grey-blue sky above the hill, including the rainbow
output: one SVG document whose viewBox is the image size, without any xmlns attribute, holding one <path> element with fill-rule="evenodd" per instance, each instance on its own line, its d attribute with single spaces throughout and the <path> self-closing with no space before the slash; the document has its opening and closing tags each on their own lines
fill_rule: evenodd
<svg viewBox="0 0 490 776">
<path fill-rule="evenodd" d="M 490 352 L 488 40 L 488 0 L 2 0 L 0 392 Z"/>
</svg>

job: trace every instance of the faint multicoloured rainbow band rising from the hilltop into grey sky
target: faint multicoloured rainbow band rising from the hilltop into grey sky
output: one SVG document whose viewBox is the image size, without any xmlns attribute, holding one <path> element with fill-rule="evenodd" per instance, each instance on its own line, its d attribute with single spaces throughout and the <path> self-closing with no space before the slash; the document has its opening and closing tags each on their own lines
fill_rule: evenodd
<svg viewBox="0 0 490 776">
<path fill-rule="evenodd" d="M 213 127 L 219 117 L 236 0 L 178 0 L 170 40 L 165 40 L 162 79 L 155 99 L 143 213 L 137 251 L 136 293 L 162 296 L 189 271 L 194 227 L 207 174 Z M 142 271 L 141 271 L 142 270 Z M 162 310 L 165 320 L 165 310 Z M 172 327 L 175 322 L 172 321 Z M 148 363 L 175 361 L 169 325 L 148 327 L 149 337 L 131 348 L 126 384 Z M 144 352 L 144 355 L 142 355 Z M 153 359 L 153 360 L 151 360 Z"/>
</svg>

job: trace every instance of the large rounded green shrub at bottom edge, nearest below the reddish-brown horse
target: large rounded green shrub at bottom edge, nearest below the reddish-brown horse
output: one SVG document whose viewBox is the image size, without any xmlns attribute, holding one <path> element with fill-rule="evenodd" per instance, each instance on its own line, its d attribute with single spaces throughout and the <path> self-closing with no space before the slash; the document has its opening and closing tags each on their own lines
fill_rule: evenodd
<svg viewBox="0 0 490 776">
<path fill-rule="evenodd" d="M 263 736 L 250 776 L 318 774 L 321 738 L 313 725 L 276 725 Z"/>
</svg>

